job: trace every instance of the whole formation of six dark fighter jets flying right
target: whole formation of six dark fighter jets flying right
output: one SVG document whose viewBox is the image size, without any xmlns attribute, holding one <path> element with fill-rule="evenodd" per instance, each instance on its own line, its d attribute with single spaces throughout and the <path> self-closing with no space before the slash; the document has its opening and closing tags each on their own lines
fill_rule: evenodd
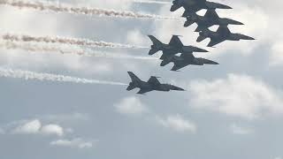
<svg viewBox="0 0 283 159">
<path fill-rule="evenodd" d="M 202 42 L 206 38 L 210 38 L 210 42 L 207 47 L 214 47 L 221 42 L 225 41 L 240 41 L 240 40 L 255 40 L 254 38 L 244 35 L 231 33 L 228 25 L 243 25 L 240 21 L 234 19 L 220 18 L 217 13 L 217 9 L 232 9 L 232 7 L 225 4 L 218 4 L 207 0 L 174 0 L 170 11 L 177 11 L 181 7 L 185 9 L 182 17 L 187 21 L 184 27 L 189 27 L 192 24 L 197 24 L 195 32 L 198 32 L 199 36 L 196 42 Z M 197 11 L 207 10 L 204 16 L 197 14 Z M 211 31 L 209 27 L 218 26 L 216 32 Z M 205 59 L 202 57 L 195 57 L 194 52 L 208 52 L 206 49 L 197 48 L 195 46 L 185 46 L 178 35 L 172 35 L 172 39 L 169 44 L 165 44 L 157 40 L 153 35 L 149 35 L 149 39 L 153 43 L 149 50 L 149 55 L 154 55 L 158 51 L 162 51 L 162 60 L 160 66 L 173 63 L 171 71 L 178 72 L 180 69 L 187 65 L 203 65 L 203 64 L 218 64 L 217 62 Z M 180 54 L 180 56 L 177 56 Z M 145 82 L 134 75 L 133 72 L 128 72 L 132 82 L 129 84 L 126 90 L 130 91 L 138 87 L 141 90 L 138 94 L 145 94 L 149 91 L 184 91 L 183 88 L 175 87 L 169 84 L 161 84 L 157 77 L 152 76 L 149 81 Z"/>
</svg>

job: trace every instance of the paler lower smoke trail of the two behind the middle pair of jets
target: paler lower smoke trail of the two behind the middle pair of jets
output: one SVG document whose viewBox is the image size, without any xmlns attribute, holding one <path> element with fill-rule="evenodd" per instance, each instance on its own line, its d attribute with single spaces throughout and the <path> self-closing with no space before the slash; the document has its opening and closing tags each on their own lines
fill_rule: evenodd
<svg viewBox="0 0 283 159">
<path fill-rule="evenodd" d="M 107 58 L 122 58 L 122 59 L 141 59 L 141 60 L 157 60 L 156 57 L 137 57 L 114 53 L 106 53 L 93 51 L 92 49 L 80 49 L 70 45 L 42 45 L 33 42 L 11 42 L 0 41 L 2 49 L 22 49 L 29 52 L 60 52 L 62 54 L 76 54 L 85 57 L 107 57 Z"/>
</svg>

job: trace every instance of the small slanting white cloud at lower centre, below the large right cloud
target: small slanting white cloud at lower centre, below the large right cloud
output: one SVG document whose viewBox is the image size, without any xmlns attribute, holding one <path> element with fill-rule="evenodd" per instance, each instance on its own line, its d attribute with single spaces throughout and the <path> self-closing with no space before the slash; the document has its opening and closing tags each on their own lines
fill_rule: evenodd
<svg viewBox="0 0 283 159">
<path fill-rule="evenodd" d="M 165 118 L 157 117 L 157 123 L 180 133 L 196 133 L 197 130 L 196 125 L 193 122 L 180 117 L 180 115 L 168 116 Z"/>
</svg>

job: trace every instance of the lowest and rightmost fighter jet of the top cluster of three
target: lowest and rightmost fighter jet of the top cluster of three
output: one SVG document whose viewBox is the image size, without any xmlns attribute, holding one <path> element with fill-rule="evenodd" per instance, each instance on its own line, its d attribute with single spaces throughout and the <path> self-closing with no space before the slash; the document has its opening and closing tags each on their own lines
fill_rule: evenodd
<svg viewBox="0 0 283 159">
<path fill-rule="evenodd" d="M 255 40 L 244 34 L 233 34 L 227 26 L 218 27 L 216 32 L 212 32 L 210 29 L 204 29 L 199 33 L 196 42 L 202 42 L 206 38 L 210 38 L 210 43 L 207 45 L 208 47 L 213 47 L 225 41 Z"/>
</svg>

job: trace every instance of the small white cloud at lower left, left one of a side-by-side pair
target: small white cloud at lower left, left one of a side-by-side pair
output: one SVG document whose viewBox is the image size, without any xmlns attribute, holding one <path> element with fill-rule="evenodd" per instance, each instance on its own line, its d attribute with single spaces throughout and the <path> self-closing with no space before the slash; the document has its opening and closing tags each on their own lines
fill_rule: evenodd
<svg viewBox="0 0 283 159">
<path fill-rule="evenodd" d="M 24 125 L 19 125 L 13 130 L 13 133 L 35 134 L 39 133 L 41 128 L 42 123 L 38 119 L 34 119 Z"/>
</svg>

